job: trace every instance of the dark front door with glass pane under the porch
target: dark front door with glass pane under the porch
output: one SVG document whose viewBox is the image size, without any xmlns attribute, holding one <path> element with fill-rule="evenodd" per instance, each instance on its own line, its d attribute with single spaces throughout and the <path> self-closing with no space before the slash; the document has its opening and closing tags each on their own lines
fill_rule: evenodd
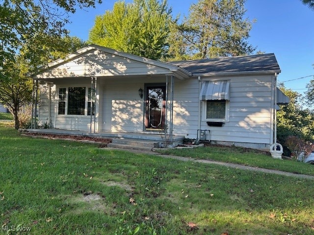
<svg viewBox="0 0 314 235">
<path fill-rule="evenodd" d="M 166 86 L 146 87 L 146 130 L 163 130 L 165 125 Z"/>
</svg>

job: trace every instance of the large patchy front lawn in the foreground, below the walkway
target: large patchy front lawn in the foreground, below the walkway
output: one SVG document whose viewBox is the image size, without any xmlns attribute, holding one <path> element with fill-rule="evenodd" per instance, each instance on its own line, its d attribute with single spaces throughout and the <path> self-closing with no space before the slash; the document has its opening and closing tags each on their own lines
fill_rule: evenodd
<svg viewBox="0 0 314 235">
<path fill-rule="evenodd" d="M 32 235 L 314 231 L 311 180 L 34 140 L 2 123 L 0 148 L 0 222 L 15 229 L 8 234 L 18 226 Z"/>
</svg>

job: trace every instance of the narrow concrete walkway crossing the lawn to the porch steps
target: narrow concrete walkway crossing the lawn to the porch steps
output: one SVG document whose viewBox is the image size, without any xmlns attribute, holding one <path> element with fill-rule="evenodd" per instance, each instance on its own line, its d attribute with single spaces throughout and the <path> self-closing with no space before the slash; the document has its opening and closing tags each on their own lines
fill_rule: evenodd
<svg viewBox="0 0 314 235">
<path fill-rule="evenodd" d="M 105 149 L 118 149 L 118 148 L 105 148 Z M 231 167 L 235 169 L 251 170 L 251 171 L 262 172 L 262 173 L 267 173 L 267 174 L 277 174 L 277 175 L 284 175 L 284 176 L 290 176 L 290 177 L 301 178 L 301 179 L 314 180 L 314 176 L 312 175 L 296 174 L 296 173 L 290 173 L 290 172 L 285 172 L 285 171 L 280 171 L 280 170 L 264 169 L 264 168 L 259 168 L 259 167 L 252 167 L 252 166 L 233 164 L 233 163 L 223 163 L 223 162 L 217 162 L 217 161 L 212 161 L 212 160 L 199 160 L 199 159 L 179 157 L 179 156 L 173 156 L 173 155 L 164 155 L 164 154 L 160 154 L 154 151 L 143 151 L 143 150 L 135 150 L 135 149 L 120 149 L 120 150 L 130 151 L 133 153 L 155 155 L 161 158 L 176 159 L 176 160 L 184 161 L 184 162 L 216 164 L 216 165 L 222 165 L 222 166 Z"/>
</svg>

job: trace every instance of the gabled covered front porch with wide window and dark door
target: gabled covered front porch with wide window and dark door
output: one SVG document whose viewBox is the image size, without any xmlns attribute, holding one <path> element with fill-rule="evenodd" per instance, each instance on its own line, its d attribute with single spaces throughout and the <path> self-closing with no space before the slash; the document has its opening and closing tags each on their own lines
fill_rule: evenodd
<svg viewBox="0 0 314 235">
<path fill-rule="evenodd" d="M 32 129 L 40 122 L 52 129 L 39 132 L 175 143 L 175 81 L 190 75 L 178 66 L 91 45 L 32 75 Z"/>
</svg>

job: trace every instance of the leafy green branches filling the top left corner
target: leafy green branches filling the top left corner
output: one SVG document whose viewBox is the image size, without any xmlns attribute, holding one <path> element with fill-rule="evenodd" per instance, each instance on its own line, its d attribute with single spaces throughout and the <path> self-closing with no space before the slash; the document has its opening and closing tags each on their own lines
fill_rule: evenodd
<svg viewBox="0 0 314 235">
<path fill-rule="evenodd" d="M 77 8 L 95 6 L 102 0 L 1 0 L 0 1 L 0 80 L 9 79 L 9 68 L 20 50 L 37 65 L 48 39 L 67 34 L 65 24 Z M 53 44 L 51 44 L 52 46 Z"/>
</svg>

